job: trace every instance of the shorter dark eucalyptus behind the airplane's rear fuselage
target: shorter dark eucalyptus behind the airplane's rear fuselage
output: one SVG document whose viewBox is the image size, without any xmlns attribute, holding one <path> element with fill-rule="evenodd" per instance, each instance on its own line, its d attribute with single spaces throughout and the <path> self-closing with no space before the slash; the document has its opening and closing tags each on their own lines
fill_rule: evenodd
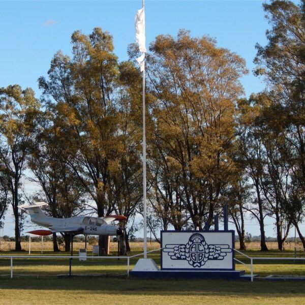
<svg viewBox="0 0 305 305">
<path fill-rule="evenodd" d="M 52 113 L 46 109 L 40 120 L 40 132 L 37 133 L 29 157 L 29 168 L 42 191 L 36 196 L 46 200 L 46 213 L 55 218 L 68 218 L 78 215 L 85 208 L 85 194 L 82 184 L 76 179 L 65 159 L 62 149 L 66 143 L 58 136 L 52 122 Z M 69 233 L 61 233 L 65 239 L 65 251 L 70 251 Z M 53 233 L 53 250 L 59 251 L 56 233 Z"/>
</svg>

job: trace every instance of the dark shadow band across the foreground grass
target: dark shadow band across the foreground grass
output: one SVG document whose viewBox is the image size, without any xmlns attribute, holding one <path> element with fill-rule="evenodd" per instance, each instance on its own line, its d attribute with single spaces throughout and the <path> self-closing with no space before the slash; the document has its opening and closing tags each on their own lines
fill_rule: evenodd
<svg viewBox="0 0 305 305">
<path fill-rule="evenodd" d="M 71 290 L 91 293 L 122 293 L 126 295 L 255 295 L 284 297 L 287 294 L 305 296 L 305 282 L 266 282 L 223 281 L 223 280 L 143 280 L 136 278 L 0 278 L 2 289 L 12 290 Z"/>
</svg>

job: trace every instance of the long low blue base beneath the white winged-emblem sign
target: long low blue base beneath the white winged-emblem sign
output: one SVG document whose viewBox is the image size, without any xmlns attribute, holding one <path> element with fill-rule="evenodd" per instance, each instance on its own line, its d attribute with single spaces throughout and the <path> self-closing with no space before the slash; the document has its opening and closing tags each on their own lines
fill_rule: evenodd
<svg viewBox="0 0 305 305">
<path fill-rule="evenodd" d="M 221 279 L 221 280 L 248 280 L 250 275 L 245 275 L 243 270 L 232 271 L 130 271 L 131 277 L 150 279 Z"/>
</svg>

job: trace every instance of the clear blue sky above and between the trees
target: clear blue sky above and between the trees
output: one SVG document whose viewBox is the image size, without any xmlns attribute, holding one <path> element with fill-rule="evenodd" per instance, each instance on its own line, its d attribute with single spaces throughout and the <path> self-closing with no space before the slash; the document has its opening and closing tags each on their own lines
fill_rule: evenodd
<svg viewBox="0 0 305 305">
<path fill-rule="evenodd" d="M 145 1 L 146 42 L 159 34 L 175 36 L 180 28 L 193 36 L 209 35 L 246 59 L 249 75 L 242 78 L 246 95 L 263 89 L 252 74 L 255 44 L 266 44 L 268 23 L 262 1 Z M 96 26 L 113 36 L 119 60 L 128 59 L 127 46 L 134 42 L 134 17 L 141 8 L 136 1 L 0 1 L 0 87 L 20 84 L 32 87 L 37 97 L 37 79 L 46 75 L 53 54 L 70 54 L 71 34 L 85 34 Z M 26 186 L 26 185 L 25 185 Z M 13 235 L 12 219 L 6 218 L 5 234 Z M 248 232 L 259 235 L 255 221 Z M 232 226 L 232 229 L 234 227 Z M 274 236 L 272 220 L 266 235 Z"/>
</svg>

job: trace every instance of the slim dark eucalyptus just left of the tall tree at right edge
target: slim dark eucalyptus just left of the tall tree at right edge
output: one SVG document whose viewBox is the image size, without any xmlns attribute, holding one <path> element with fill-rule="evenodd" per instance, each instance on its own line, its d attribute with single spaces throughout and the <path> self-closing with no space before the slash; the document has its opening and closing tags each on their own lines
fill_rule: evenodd
<svg viewBox="0 0 305 305">
<path fill-rule="evenodd" d="M 292 224 L 285 210 L 291 187 L 291 144 L 286 139 L 285 130 L 277 124 L 279 116 L 281 111 L 278 107 L 264 105 L 261 120 L 266 126 L 262 133 L 265 174 L 260 176 L 260 186 L 268 203 L 267 209 L 275 219 L 278 249 L 284 250 L 284 242 Z"/>
</svg>

